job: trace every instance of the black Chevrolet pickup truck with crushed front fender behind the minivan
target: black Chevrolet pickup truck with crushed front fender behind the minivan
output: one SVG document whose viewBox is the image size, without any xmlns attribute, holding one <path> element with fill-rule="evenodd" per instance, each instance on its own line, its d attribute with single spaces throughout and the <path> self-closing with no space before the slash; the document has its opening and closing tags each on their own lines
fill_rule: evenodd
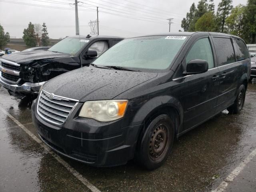
<svg viewBox="0 0 256 192">
<path fill-rule="evenodd" d="M 0 58 L 0 84 L 3 90 L 16 98 L 35 96 L 46 81 L 88 66 L 122 39 L 112 36 L 69 36 L 48 51 L 19 52 L 3 56 Z"/>
</svg>

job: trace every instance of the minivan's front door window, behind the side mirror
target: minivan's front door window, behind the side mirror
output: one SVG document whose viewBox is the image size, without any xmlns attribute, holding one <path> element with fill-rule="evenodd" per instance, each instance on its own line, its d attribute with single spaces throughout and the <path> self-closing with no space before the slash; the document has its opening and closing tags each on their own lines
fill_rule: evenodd
<svg viewBox="0 0 256 192">
<path fill-rule="evenodd" d="M 212 47 L 208 38 L 199 39 L 192 46 L 188 52 L 188 55 L 186 56 L 186 63 L 188 64 L 188 62 L 193 59 L 206 60 L 209 65 L 209 69 L 214 68 Z"/>
</svg>

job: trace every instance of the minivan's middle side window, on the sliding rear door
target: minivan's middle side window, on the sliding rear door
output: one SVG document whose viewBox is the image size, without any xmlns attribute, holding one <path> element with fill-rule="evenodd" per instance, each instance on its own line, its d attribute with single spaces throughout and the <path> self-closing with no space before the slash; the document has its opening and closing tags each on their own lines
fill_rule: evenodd
<svg viewBox="0 0 256 192">
<path fill-rule="evenodd" d="M 218 58 L 218 66 L 235 62 L 234 48 L 230 38 L 213 38 L 216 55 Z"/>
</svg>

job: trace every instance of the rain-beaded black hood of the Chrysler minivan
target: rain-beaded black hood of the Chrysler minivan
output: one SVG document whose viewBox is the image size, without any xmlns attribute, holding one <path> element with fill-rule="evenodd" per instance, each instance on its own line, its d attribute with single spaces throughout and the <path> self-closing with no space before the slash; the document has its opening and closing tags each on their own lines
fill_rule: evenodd
<svg viewBox="0 0 256 192">
<path fill-rule="evenodd" d="M 157 76 L 157 73 L 82 67 L 46 82 L 43 90 L 85 102 L 112 99 Z"/>
</svg>

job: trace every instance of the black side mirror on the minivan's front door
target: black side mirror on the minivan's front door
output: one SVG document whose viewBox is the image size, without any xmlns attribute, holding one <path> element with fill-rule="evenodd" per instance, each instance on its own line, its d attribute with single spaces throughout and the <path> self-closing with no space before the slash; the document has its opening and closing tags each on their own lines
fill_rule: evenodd
<svg viewBox="0 0 256 192">
<path fill-rule="evenodd" d="M 208 62 L 202 59 L 190 60 L 187 64 L 186 75 L 199 74 L 208 71 Z"/>
</svg>

